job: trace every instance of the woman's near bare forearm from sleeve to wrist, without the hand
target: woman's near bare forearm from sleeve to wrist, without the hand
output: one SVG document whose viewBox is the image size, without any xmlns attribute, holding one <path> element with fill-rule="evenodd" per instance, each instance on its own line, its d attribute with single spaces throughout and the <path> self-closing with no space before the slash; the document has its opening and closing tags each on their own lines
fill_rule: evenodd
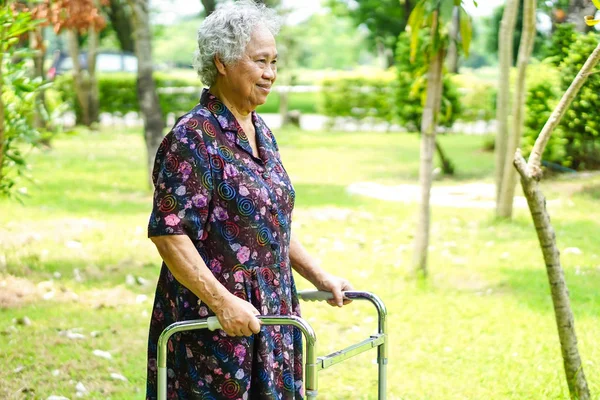
<svg viewBox="0 0 600 400">
<path fill-rule="evenodd" d="M 167 235 L 150 239 L 175 279 L 216 312 L 229 292 L 208 269 L 190 238 Z"/>
</svg>

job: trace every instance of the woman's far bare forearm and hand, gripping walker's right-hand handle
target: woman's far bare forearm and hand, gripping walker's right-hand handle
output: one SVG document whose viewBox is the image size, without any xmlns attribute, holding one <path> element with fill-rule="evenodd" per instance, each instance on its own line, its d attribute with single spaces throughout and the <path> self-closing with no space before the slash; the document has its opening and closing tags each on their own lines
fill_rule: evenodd
<svg viewBox="0 0 600 400">
<path fill-rule="evenodd" d="M 292 268 L 315 285 L 317 289 L 333 293 L 333 300 L 328 301 L 330 305 L 341 307 L 351 302 L 344 300 L 342 296 L 343 291 L 352 290 L 350 282 L 333 276 L 321 268 L 294 235 L 290 239 L 290 262 Z"/>
</svg>

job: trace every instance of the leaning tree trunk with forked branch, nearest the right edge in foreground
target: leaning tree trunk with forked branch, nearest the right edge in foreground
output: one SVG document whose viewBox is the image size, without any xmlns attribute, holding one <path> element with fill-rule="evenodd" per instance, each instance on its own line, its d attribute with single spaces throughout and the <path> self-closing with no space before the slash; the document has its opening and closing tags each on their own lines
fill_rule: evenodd
<svg viewBox="0 0 600 400">
<path fill-rule="evenodd" d="M 583 365 L 577 348 L 577 335 L 575 333 L 575 322 L 569 291 L 565 282 L 565 276 L 560 264 L 560 253 L 556 246 L 556 236 L 550 222 L 550 216 L 546 209 L 546 199 L 542 194 L 539 181 L 542 177 L 541 161 L 544 149 L 548 144 L 550 135 L 558 126 L 560 120 L 571 105 L 573 99 L 592 73 L 594 67 L 600 61 L 600 44 L 588 57 L 587 61 L 562 96 L 560 102 L 548 118 L 533 146 L 529 161 L 521 156 L 521 152 L 515 154 L 514 164 L 521 175 L 521 185 L 527 198 L 527 204 L 537 231 L 538 240 L 546 263 L 546 272 L 552 294 L 552 304 L 558 328 L 563 364 L 572 399 L 588 400 L 591 398 L 590 391 L 583 372 Z"/>
</svg>

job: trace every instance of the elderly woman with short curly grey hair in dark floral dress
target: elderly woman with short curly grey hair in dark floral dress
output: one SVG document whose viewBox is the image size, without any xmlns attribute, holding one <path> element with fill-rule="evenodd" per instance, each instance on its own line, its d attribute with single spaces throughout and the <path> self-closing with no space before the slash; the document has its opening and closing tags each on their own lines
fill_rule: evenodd
<svg viewBox="0 0 600 400">
<path fill-rule="evenodd" d="M 342 306 L 350 284 L 325 272 L 292 235 L 294 188 L 255 113 L 277 77 L 272 10 L 245 0 L 198 31 L 200 103 L 158 149 L 149 236 L 164 260 L 148 346 L 169 324 L 216 315 L 223 330 L 182 333 L 168 348 L 169 399 L 301 399 L 302 341 L 257 315 L 299 315 L 292 268 Z"/>
</svg>

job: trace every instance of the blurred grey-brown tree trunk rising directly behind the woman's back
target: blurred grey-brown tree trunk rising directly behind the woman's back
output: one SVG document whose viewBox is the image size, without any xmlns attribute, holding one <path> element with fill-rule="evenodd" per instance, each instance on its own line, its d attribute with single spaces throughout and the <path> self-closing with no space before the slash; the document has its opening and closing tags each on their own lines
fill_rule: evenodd
<svg viewBox="0 0 600 400">
<path fill-rule="evenodd" d="M 156 151 L 163 139 L 165 121 L 152 77 L 152 41 L 148 0 L 128 0 L 132 9 L 135 53 L 138 58 L 137 94 L 144 119 L 144 139 L 147 151 L 148 182 L 152 187 L 152 168 Z"/>
</svg>

